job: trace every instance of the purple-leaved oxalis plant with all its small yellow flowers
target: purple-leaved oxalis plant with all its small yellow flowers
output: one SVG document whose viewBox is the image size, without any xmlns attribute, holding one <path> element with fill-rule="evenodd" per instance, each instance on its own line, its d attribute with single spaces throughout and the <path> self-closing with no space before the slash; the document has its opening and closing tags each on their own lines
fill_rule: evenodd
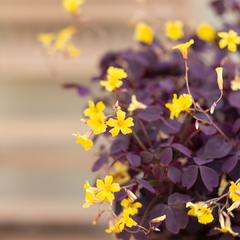
<svg viewBox="0 0 240 240">
<path fill-rule="evenodd" d="M 65 0 L 63 6 L 81 22 L 82 3 Z M 158 30 L 137 21 L 139 50 L 109 52 L 100 62 L 94 84 L 109 95 L 89 100 L 86 133 L 73 135 L 86 151 L 100 134 L 111 141 L 92 167 L 104 177 L 84 185 L 83 208 L 98 204 L 93 224 L 109 214 L 106 232 L 117 238 L 240 237 L 240 3 L 211 5 L 222 19 L 235 15 L 234 21 L 219 31 L 208 23 L 196 31 L 167 21 Z M 74 56 L 66 32 L 39 40 L 50 52 Z M 89 91 L 68 86 L 81 95 Z"/>
</svg>

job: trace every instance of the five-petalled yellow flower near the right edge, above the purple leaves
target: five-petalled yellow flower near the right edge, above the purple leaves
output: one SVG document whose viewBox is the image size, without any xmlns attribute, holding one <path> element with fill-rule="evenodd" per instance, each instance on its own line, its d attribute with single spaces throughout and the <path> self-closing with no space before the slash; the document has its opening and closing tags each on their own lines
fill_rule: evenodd
<svg viewBox="0 0 240 240">
<path fill-rule="evenodd" d="M 225 48 L 228 46 L 228 50 L 231 52 L 236 52 L 237 50 L 237 45 L 240 44 L 240 37 L 237 35 L 237 33 L 233 30 L 230 30 L 228 33 L 227 32 L 219 32 L 218 36 L 222 38 L 219 41 L 219 47 L 220 48 Z"/>
</svg>

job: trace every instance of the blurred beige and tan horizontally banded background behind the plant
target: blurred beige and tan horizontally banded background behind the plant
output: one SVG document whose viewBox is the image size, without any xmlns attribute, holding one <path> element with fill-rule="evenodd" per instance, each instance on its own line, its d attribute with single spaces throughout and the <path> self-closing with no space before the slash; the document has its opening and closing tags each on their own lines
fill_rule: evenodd
<svg viewBox="0 0 240 240">
<path fill-rule="evenodd" d="M 88 97 L 61 88 L 63 82 L 84 83 L 97 74 L 100 57 L 109 49 L 137 47 L 127 26 L 137 15 L 151 21 L 214 21 L 207 0 L 86 0 L 82 13 L 109 36 L 108 45 L 85 29 L 74 37 L 77 59 L 60 60 L 60 80 L 48 71 L 36 35 L 58 32 L 73 24 L 61 0 L 0 0 L 0 238 L 111 239 L 106 221 L 94 228 L 97 208 L 82 209 L 85 180 L 97 176 L 91 167 L 98 147 L 85 152 L 72 133 Z M 100 234 L 99 234 L 100 233 Z"/>
</svg>

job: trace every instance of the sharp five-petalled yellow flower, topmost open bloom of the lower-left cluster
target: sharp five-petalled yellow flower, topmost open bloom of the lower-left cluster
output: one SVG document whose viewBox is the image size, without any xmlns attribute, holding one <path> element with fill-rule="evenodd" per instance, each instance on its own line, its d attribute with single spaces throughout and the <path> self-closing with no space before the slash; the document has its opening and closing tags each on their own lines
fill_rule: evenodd
<svg viewBox="0 0 240 240">
<path fill-rule="evenodd" d="M 99 188 L 100 191 L 97 193 L 96 198 L 112 204 L 112 201 L 115 199 L 112 192 L 119 192 L 120 186 L 118 183 L 112 183 L 112 176 L 107 175 L 104 181 L 105 183 L 102 180 L 97 179 L 97 188 Z"/>
</svg>

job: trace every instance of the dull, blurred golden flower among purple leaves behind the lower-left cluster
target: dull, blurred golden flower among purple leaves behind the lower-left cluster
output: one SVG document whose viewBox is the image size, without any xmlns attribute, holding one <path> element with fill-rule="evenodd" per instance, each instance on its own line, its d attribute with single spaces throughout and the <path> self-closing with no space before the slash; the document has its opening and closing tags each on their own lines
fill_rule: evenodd
<svg viewBox="0 0 240 240">
<path fill-rule="evenodd" d="M 113 176 L 113 182 L 117 182 L 119 184 L 123 184 L 131 179 L 128 173 L 128 166 L 121 163 L 116 162 L 114 165 L 114 171 L 109 172 L 109 175 Z"/>
</svg>

